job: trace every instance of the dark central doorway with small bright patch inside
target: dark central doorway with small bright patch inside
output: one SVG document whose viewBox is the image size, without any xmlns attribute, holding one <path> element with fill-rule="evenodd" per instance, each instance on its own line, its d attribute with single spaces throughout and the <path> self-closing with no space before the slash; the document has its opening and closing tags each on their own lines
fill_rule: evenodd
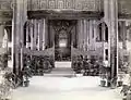
<svg viewBox="0 0 131 100">
<path fill-rule="evenodd" d="M 71 46 L 76 37 L 76 21 L 51 20 L 55 36 L 55 61 L 71 61 Z M 76 41 L 76 40 L 75 40 Z"/>
</svg>

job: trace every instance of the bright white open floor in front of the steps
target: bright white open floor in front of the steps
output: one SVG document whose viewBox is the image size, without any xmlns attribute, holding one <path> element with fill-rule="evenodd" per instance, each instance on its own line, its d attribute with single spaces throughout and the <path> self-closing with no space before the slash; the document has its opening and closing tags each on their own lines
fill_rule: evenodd
<svg viewBox="0 0 131 100">
<path fill-rule="evenodd" d="M 119 89 L 99 87 L 98 77 L 45 77 L 13 92 L 12 100 L 121 100 Z"/>
</svg>

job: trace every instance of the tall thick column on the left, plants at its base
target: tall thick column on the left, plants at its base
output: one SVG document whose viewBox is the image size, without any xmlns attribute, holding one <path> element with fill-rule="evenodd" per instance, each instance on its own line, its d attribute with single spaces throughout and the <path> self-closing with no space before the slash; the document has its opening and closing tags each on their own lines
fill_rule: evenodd
<svg viewBox="0 0 131 100">
<path fill-rule="evenodd" d="M 12 21 L 13 72 L 20 75 L 22 68 L 23 28 L 26 21 L 26 0 L 14 0 Z"/>
</svg>

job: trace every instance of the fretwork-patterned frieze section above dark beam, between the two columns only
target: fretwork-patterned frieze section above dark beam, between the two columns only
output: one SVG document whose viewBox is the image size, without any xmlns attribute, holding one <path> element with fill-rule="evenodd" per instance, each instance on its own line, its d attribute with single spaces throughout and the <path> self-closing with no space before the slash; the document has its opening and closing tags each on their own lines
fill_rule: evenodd
<svg viewBox="0 0 131 100">
<path fill-rule="evenodd" d="M 100 0 L 28 0 L 29 10 L 84 10 L 99 11 Z"/>
</svg>

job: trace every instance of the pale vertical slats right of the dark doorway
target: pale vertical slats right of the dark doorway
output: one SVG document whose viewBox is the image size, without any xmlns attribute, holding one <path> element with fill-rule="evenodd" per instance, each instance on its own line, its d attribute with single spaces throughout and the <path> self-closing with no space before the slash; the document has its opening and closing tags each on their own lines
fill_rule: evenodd
<svg viewBox="0 0 131 100">
<path fill-rule="evenodd" d="M 79 24 L 79 49 L 88 51 L 96 50 L 95 41 L 97 37 L 97 20 L 80 20 Z"/>
</svg>

